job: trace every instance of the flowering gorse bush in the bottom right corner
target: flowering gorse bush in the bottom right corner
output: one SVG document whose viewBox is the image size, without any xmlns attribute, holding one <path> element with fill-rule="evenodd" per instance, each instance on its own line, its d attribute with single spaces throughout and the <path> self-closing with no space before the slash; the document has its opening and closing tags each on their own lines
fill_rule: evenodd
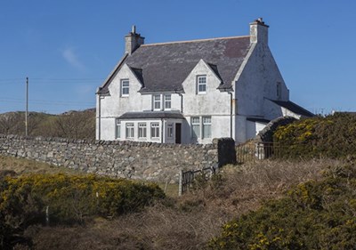
<svg viewBox="0 0 356 250">
<path fill-rule="evenodd" d="M 210 249 L 355 249 L 356 168 L 330 169 L 223 226 Z"/>
</svg>

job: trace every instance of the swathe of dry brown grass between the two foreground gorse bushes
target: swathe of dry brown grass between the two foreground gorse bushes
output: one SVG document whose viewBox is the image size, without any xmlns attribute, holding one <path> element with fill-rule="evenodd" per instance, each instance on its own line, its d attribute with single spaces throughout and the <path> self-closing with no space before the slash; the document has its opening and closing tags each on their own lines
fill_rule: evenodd
<svg viewBox="0 0 356 250">
<path fill-rule="evenodd" d="M 281 197 L 292 185 L 319 180 L 321 170 L 340 164 L 312 160 L 227 166 L 222 181 L 167 198 L 142 213 L 98 219 L 85 227 L 33 228 L 28 236 L 35 249 L 202 249 L 224 222 Z"/>
</svg>

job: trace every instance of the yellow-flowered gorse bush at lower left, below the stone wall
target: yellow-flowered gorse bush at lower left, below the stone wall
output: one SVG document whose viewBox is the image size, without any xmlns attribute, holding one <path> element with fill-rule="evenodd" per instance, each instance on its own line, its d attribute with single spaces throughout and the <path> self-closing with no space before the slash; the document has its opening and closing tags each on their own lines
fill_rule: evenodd
<svg viewBox="0 0 356 250">
<path fill-rule="evenodd" d="M 82 223 L 93 216 L 137 212 L 164 197 L 155 184 L 95 175 L 4 177 L 0 183 L 0 248 L 32 224 L 47 220 L 52 224 Z"/>
</svg>

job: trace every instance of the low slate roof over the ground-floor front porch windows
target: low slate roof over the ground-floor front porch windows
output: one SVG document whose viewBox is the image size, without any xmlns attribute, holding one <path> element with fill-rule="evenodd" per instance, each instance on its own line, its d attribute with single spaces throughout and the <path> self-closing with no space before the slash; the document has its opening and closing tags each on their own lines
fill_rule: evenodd
<svg viewBox="0 0 356 250">
<path fill-rule="evenodd" d="M 184 119 L 179 111 L 143 111 L 143 112 L 127 112 L 119 119 Z"/>
</svg>

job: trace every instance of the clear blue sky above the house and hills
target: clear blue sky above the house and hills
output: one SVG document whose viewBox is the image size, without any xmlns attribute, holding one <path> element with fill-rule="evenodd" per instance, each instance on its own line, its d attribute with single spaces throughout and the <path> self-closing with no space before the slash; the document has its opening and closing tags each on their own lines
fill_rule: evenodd
<svg viewBox="0 0 356 250">
<path fill-rule="evenodd" d="M 356 110 L 353 0 L 0 0 L 0 113 L 95 106 L 95 90 L 136 25 L 145 43 L 246 36 L 258 17 L 292 101 Z"/>
</svg>

